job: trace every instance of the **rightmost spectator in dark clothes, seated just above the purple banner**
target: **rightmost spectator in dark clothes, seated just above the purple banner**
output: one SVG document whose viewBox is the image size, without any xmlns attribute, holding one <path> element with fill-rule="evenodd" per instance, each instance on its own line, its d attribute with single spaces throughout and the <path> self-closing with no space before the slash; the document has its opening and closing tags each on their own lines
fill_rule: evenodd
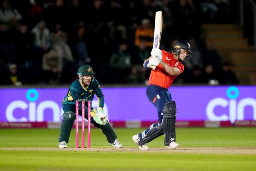
<svg viewBox="0 0 256 171">
<path fill-rule="evenodd" d="M 219 74 L 219 82 L 220 84 L 239 84 L 238 78 L 236 77 L 236 74 L 232 70 L 232 65 L 229 62 L 224 62 L 222 64 L 222 70 Z"/>
</svg>

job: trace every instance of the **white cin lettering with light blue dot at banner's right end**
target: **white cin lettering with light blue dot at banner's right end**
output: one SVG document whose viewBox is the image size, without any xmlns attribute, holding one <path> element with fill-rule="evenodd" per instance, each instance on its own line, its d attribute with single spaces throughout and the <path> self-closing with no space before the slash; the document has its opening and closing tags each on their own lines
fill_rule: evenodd
<svg viewBox="0 0 256 171">
<path fill-rule="evenodd" d="M 239 101 L 236 100 L 239 96 L 239 90 L 235 86 L 230 86 L 226 92 L 229 100 L 224 98 L 214 98 L 206 106 L 206 115 L 209 120 L 226 121 L 230 120 L 234 124 L 235 120 L 244 120 L 244 108 L 251 106 L 253 110 L 253 119 L 256 120 L 256 99 L 254 98 L 243 98 Z M 228 106 L 229 114 L 218 114 L 214 113 L 214 108 L 221 106 L 226 108 Z"/>
</svg>

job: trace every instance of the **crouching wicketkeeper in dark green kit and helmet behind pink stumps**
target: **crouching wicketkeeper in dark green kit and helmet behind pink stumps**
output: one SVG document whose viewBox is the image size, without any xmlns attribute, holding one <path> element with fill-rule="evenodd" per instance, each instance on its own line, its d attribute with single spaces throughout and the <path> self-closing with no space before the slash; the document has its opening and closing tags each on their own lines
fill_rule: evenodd
<svg viewBox="0 0 256 171">
<path fill-rule="evenodd" d="M 62 100 L 62 123 L 59 135 L 59 148 L 67 148 L 72 125 L 76 119 L 76 100 L 87 99 L 92 101 L 94 94 L 98 97 L 98 107 L 92 108 L 91 123 L 100 128 L 106 136 L 108 143 L 116 148 L 123 145 L 117 140 L 116 133 L 108 121 L 108 116 L 104 114 L 104 95 L 100 84 L 94 79 L 94 72 L 89 65 L 82 65 L 77 72 L 78 78 L 71 84 L 68 93 Z M 85 104 L 85 118 L 88 119 L 88 104 Z M 82 112 L 82 104 L 79 104 L 79 114 Z"/>
</svg>

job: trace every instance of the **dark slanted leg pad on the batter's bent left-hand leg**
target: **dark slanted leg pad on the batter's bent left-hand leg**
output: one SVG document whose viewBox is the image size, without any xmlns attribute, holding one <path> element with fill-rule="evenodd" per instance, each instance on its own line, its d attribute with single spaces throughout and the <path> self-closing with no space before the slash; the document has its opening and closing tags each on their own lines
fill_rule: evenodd
<svg viewBox="0 0 256 171">
<path fill-rule="evenodd" d="M 151 128 L 147 134 L 145 135 L 145 137 L 143 137 L 139 142 L 138 145 L 144 145 L 146 143 L 151 142 L 152 140 L 158 138 L 159 136 L 163 135 L 164 131 L 163 131 L 163 126 L 162 124 L 159 124 L 158 126 Z"/>
</svg>

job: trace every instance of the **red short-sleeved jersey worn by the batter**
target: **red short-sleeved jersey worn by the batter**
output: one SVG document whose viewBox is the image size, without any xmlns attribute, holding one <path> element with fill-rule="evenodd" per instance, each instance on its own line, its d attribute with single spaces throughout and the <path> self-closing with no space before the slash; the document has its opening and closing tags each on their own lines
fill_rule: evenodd
<svg viewBox="0 0 256 171">
<path fill-rule="evenodd" d="M 167 51 L 162 51 L 162 61 L 170 65 L 171 67 L 176 67 L 180 70 L 180 74 L 184 71 L 184 65 L 174 59 L 173 54 Z M 152 69 L 149 79 L 148 85 L 158 85 L 162 88 L 169 88 L 172 85 L 174 79 L 178 76 L 169 75 L 166 71 L 164 71 L 162 65 L 158 65 L 156 69 Z"/>
</svg>

